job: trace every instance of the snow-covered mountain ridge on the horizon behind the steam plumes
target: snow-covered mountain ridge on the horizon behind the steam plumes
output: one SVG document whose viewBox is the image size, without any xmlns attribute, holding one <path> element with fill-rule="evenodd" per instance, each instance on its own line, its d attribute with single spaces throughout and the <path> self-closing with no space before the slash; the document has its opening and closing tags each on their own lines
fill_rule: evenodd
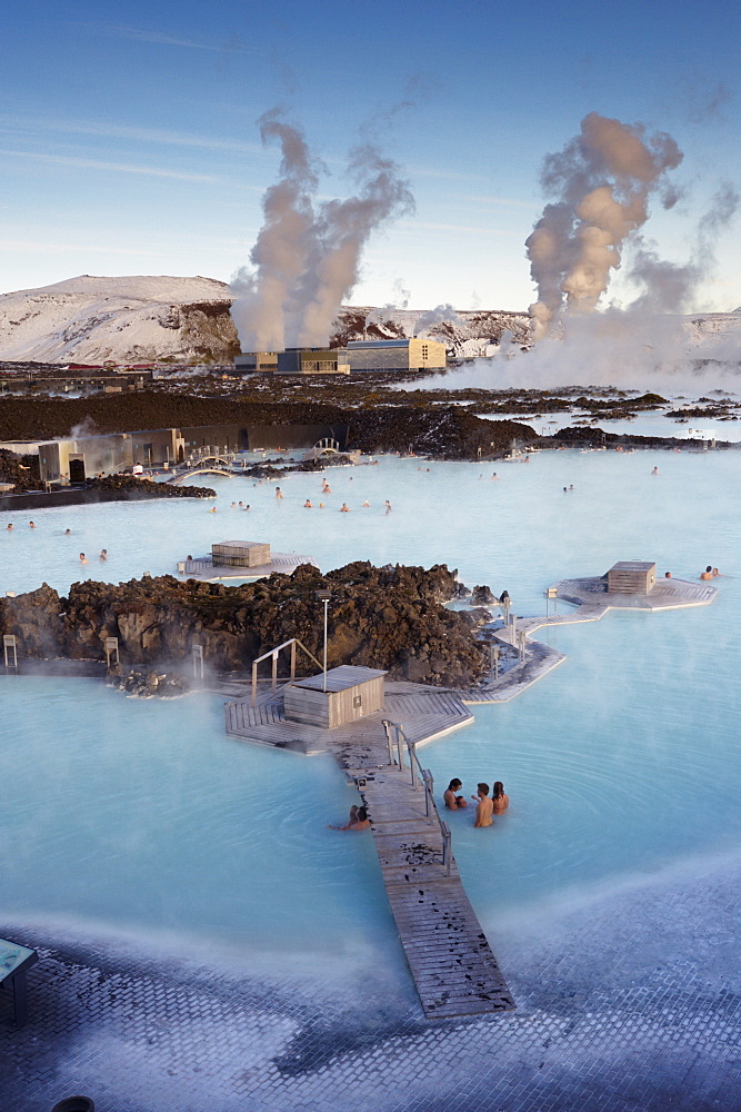
<svg viewBox="0 0 741 1112">
<path fill-rule="evenodd" d="M 230 363 L 239 340 L 227 282 L 213 278 L 80 275 L 38 289 L 0 296 L 0 360 L 37 363 Z M 330 344 L 412 336 L 423 309 L 342 306 Z M 439 314 L 438 314 L 439 317 Z M 741 311 L 694 314 L 692 339 L 725 336 Z M 509 334 L 530 342 L 527 312 L 459 310 L 437 319 L 421 336 L 442 340 L 459 358 L 491 354 Z"/>
</svg>

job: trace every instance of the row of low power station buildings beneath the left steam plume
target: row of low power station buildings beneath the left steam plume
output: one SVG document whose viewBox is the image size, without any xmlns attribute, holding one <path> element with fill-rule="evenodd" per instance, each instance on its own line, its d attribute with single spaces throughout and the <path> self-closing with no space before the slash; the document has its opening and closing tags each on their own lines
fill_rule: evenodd
<svg viewBox="0 0 741 1112">
<path fill-rule="evenodd" d="M 244 374 L 349 375 L 353 370 L 444 370 L 445 345 L 439 340 L 350 340 L 346 348 L 287 348 L 238 355 Z"/>
</svg>

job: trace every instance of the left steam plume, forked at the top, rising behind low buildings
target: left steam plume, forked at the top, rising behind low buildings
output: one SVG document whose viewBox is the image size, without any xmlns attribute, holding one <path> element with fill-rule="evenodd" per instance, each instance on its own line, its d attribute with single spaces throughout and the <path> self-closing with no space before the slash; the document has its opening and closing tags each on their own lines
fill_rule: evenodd
<svg viewBox="0 0 741 1112">
<path fill-rule="evenodd" d="M 357 193 L 316 202 L 323 167 L 303 132 L 274 109 L 260 120 L 263 142 L 280 142 L 280 180 L 263 198 L 264 222 L 250 256 L 232 281 L 231 311 L 243 350 L 314 347 L 329 332 L 359 277 L 371 234 L 395 216 L 411 212 L 409 183 L 373 142 L 350 152 Z"/>
</svg>

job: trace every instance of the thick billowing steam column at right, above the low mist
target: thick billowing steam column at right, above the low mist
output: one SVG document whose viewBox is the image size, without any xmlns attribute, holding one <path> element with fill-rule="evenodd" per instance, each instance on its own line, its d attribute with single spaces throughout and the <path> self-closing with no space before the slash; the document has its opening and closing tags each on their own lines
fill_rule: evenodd
<svg viewBox="0 0 741 1112">
<path fill-rule="evenodd" d="M 542 182 L 554 200 L 525 241 L 538 300 L 530 306 L 533 335 L 551 331 L 564 308 L 594 309 L 620 266 L 623 242 L 645 224 L 651 192 L 663 187 L 682 153 L 670 136 L 645 136 L 640 125 L 590 112 L 579 136 L 545 158 Z"/>
</svg>

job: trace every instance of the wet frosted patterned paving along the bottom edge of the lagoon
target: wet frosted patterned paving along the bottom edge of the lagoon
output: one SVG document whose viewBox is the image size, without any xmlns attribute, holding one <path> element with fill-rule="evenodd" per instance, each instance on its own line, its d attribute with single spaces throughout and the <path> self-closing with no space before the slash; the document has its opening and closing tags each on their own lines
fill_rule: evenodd
<svg viewBox="0 0 741 1112">
<path fill-rule="evenodd" d="M 39 943 L 31 1017 L 0 1001 L 0 1108 L 50 1112 L 738 1112 L 741 867 L 494 925 L 518 1011 L 425 1023 L 401 955 L 300 970 L 249 953 Z"/>
</svg>

